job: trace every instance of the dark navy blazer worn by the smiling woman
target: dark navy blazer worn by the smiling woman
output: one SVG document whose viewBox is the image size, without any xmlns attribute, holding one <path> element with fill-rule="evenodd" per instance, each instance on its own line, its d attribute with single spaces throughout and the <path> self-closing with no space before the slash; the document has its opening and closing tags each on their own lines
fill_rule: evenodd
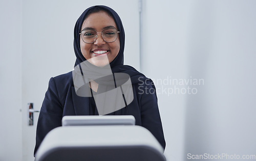
<svg viewBox="0 0 256 161">
<path fill-rule="evenodd" d="M 154 86 L 154 85 L 153 85 Z M 134 100 L 127 105 L 127 115 L 133 115 L 136 125 L 150 130 L 155 138 L 165 148 L 165 140 L 161 118 L 158 110 L 157 97 L 153 93 L 150 79 L 141 84 L 133 85 Z M 52 77 L 42 102 L 36 129 L 36 153 L 47 133 L 61 126 L 63 116 L 89 115 L 86 97 L 77 96 L 73 84 L 72 72 Z"/>
</svg>

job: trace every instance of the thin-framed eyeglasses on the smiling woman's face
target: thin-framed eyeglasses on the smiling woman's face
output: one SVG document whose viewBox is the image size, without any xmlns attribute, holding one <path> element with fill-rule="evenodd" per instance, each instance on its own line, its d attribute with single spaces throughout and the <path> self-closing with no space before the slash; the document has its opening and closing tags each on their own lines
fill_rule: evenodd
<svg viewBox="0 0 256 161">
<path fill-rule="evenodd" d="M 101 37 L 105 42 L 114 42 L 117 39 L 117 29 L 105 29 L 101 33 Z M 82 30 L 79 35 L 81 35 L 82 41 L 85 43 L 94 43 L 98 38 L 98 33 L 94 30 Z"/>
</svg>

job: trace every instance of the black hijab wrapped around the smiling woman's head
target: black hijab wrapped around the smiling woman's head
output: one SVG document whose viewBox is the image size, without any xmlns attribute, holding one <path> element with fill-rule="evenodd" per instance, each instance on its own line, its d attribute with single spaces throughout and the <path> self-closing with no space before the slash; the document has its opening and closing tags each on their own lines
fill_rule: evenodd
<svg viewBox="0 0 256 161">
<path fill-rule="evenodd" d="M 78 18 L 78 20 L 76 21 L 75 24 L 75 29 L 74 29 L 74 50 L 75 50 L 75 55 L 76 55 L 76 62 L 75 62 L 75 66 L 79 65 L 80 63 L 86 61 L 86 58 L 83 57 L 81 49 L 80 49 L 80 31 L 81 31 L 81 27 L 82 27 L 82 23 L 84 21 L 84 19 L 87 18 L 88 14 L 90 14 L 90 11 L 95 9 L 95 8 L 99 8 L 103 11 L 108 12 L 109 14 L 112 15 L 112 18 L 115 20 L 115 23 L 117 25 L 117 29 L 118 31 L 120 31 L 119 33 L 119 41 L 120 41 L 120 50 L 118 52 L 118 55 L 116 56 L 116 58 L 110 63 L 111 66 L 111 70 L 113 73 L 127 73 L 130 75 L 131 77 L 131 81 L 132 84 L 137 84 L 140 83 L 139 82 L 139 77 L 140 80 L 145 80 L 146 77 L 138 72 L 135 68 L 128 66 L 128 65 L 123 65 L 123 51 L 124 51 L 124 29 L 123 29 L 123 25 L 122 25 L 122 21 L 120 19 L 120 17 L 118 16 L 118 14 L 111 8 L 107 7 L 107 6 L 93 6 L 90 7 L 88 9 L 86 9 L 81 16 Z"/>
</svg>

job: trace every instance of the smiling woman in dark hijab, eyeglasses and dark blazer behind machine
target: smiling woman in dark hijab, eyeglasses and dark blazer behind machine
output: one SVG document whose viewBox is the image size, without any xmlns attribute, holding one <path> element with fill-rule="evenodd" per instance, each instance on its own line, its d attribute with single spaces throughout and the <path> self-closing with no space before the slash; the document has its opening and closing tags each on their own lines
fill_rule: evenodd
<svg viewBox="0 0 256 161">
<path fill-rule="evenodd" d="M 75 24 L 74 50 L 75 70 L 52 77 L 49 81 L 38 118 L 34 153 L 47 133 L 61 126 L 63 116 L 99 113 L 133 115 L 136 125 L 150 130 L 165 148 L 156 94 L 145 91 L 155 90 L 153 82 L 133 67 L 123 65 L 124 29 L 118 14 L 106 6 L 93 6 L 84 11 Z M 121 73 L 129 75 L 128 78 Z M 120 79 L 117 78 L 118 74 L 121 74 Z M 114 77 L 114 89 L 109 85 L 113 82 L 109 81 L 108 75 Z M 83 86 L 79 86 L 79 77 L 84 83 Z M 125 82 L 131 82 L 131 86 L 128 86 L 131 89 L 122 89 L 122 102 L 125 107 L 115 107 L 115 110 L 101 112 L 96 96 L 119 88 L 121 85 L 118 84 L 123 84 L 123 78 Z M 110 89 L 106 89 L 109 87 Z M 130 94 L 133 97 L 130 100 L 127 99 L 129 90 L 132 91 Z"/>
</svg>

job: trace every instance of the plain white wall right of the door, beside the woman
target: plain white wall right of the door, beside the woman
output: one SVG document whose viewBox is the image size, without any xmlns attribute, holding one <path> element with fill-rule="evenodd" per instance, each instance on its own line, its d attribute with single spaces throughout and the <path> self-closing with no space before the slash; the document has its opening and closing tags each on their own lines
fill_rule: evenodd
<svg viewBox="0 0 256 161">
<path fill-rule="evenodd" d="M 255 154 L 255 1 L 143 1 L 143 71 L 156 83 L 168 160 Z M 170 92 L 172 92 L 170 90 Z M 184 92 L 184 91 L 183 91 Z M 218 160 L 218 159 L 216 159 Z"/>
</svg>

